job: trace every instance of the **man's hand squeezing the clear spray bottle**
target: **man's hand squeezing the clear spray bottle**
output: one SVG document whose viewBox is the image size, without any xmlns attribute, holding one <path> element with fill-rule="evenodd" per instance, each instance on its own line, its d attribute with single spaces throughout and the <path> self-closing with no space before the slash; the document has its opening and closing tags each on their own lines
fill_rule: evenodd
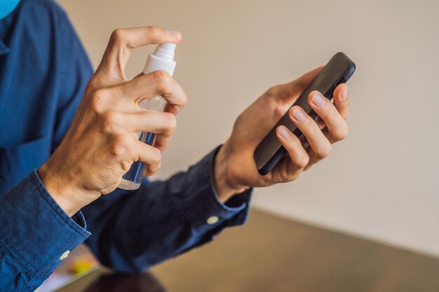
<svg viewBox="0 0 439 292">
<path fill-rule="evenodd" d="M 50 195 L 69 216 L 102 194 L 112 192 L 133 162 L 147 166 L 146 176 L 160 168 L 173 135 L 175 115 L 187 96 L 166 72 L 140 74 L 127 81 L 124 69 L 130 51 L 150 43 L 178 43 L 179 32 L 158 27 L 116 29 L 102 62 L 90 79 L 65 139 L 39 169 Z M 147 111 L 142 99 L 161 95 L 166 112 Z M 156 144 L 138 140 L 136 132 L 156 133 Z"/>
</svg>

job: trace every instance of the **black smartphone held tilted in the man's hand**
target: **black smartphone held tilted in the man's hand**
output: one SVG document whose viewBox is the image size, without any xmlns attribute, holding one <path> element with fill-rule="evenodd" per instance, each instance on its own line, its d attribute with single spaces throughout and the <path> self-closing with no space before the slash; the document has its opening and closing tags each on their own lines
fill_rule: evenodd
<svg viewBox="0 0 439 292">
<path fill-rule="evenodd" d="M 326 66 L 320 71 L 320 73 L 314 78 L 314 80 L 308 85 L 308 87 L 302 92 L 297 101 L 292 106 L 300 106 L 311 118 L 316 118 L 317 113 L 311 109 L 308 104 L 308 95 L 313 90 L 318 90 L 327 99 L 332 100 L 334 90 L 340 83 L 346 83 L 351 78 L 355 71 L 355 64 L 344 53 L 339 52 L 327 62 Z M 292 107 L 291 106 L 291 107 Z M 288 111 L 283 115 L 281 120 L 274 125 L 268 134 L 262 139 L 261 143 L 255 149 L 253 154 L 259 174 L 265 175 L 271 172 L 271 170 L 278 164 L 279 160 L 285 154 L 285 148 L 283 148 L 281 142 L 276 136 L 276 129 L 284 125 L 295 134 L 297 137 L 302 135 L 302 132 L 296 127 L 292 120 L 288 117 Z"/>
</svg>

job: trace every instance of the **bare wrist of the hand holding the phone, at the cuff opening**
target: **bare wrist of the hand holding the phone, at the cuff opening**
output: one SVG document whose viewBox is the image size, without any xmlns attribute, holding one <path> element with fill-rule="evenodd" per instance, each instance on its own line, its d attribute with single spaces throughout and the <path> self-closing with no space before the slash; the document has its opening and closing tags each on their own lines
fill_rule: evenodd
<svg viewBox="0 0 439 292">
<path fill-rule="evenodd" d="M 218 199 L 227 202 L 236 194 L 243 193 L 247 186 L 240 186 L 230 173 L 227 142 L 219 148 L 213 167 L 213 183 Z"/>
</svg>

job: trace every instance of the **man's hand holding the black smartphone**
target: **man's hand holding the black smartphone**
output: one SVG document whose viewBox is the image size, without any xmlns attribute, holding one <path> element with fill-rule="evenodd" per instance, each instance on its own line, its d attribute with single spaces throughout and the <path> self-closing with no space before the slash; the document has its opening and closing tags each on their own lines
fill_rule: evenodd
<svg viewBox="0 0 439 292">
<path fill-rule="evenodd" d="M 257 172 L 253 160 L 255 148 L 322 68 L 314 69 L 291 83 L 274 86 L 241 113 L 231 137 L 215 159 L 215 188 L 219 200 L 225 202 L 245 188 L 294 181 L 304 170 L 329 155 L 331 144 L 346 137 L 349 110 L 346 84 L 335 89 L 334 104 L 320 92 L 313 91 L 308 102 L 320 117 L 317 122 L 297 106 L 288 111 L 308 145 L 303 146 L 286 127 L 278 127 L 276 134 L 288 155 L 269 174 L 262 176 Z"/>
</svg>

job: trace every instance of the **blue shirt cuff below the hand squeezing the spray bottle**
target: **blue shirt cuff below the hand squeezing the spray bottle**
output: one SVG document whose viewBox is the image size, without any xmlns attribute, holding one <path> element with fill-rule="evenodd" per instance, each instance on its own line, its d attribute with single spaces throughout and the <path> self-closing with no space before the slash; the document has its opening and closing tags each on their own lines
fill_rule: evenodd
<svg viewBox="0 0 439 292">
<path fill-rule="evenodd" d="M 0 197 L 0 245 L 36 277 L 48 277 L 89 235 L 79 211 L 70 218 L 36 171 Z"/>
</svg>

